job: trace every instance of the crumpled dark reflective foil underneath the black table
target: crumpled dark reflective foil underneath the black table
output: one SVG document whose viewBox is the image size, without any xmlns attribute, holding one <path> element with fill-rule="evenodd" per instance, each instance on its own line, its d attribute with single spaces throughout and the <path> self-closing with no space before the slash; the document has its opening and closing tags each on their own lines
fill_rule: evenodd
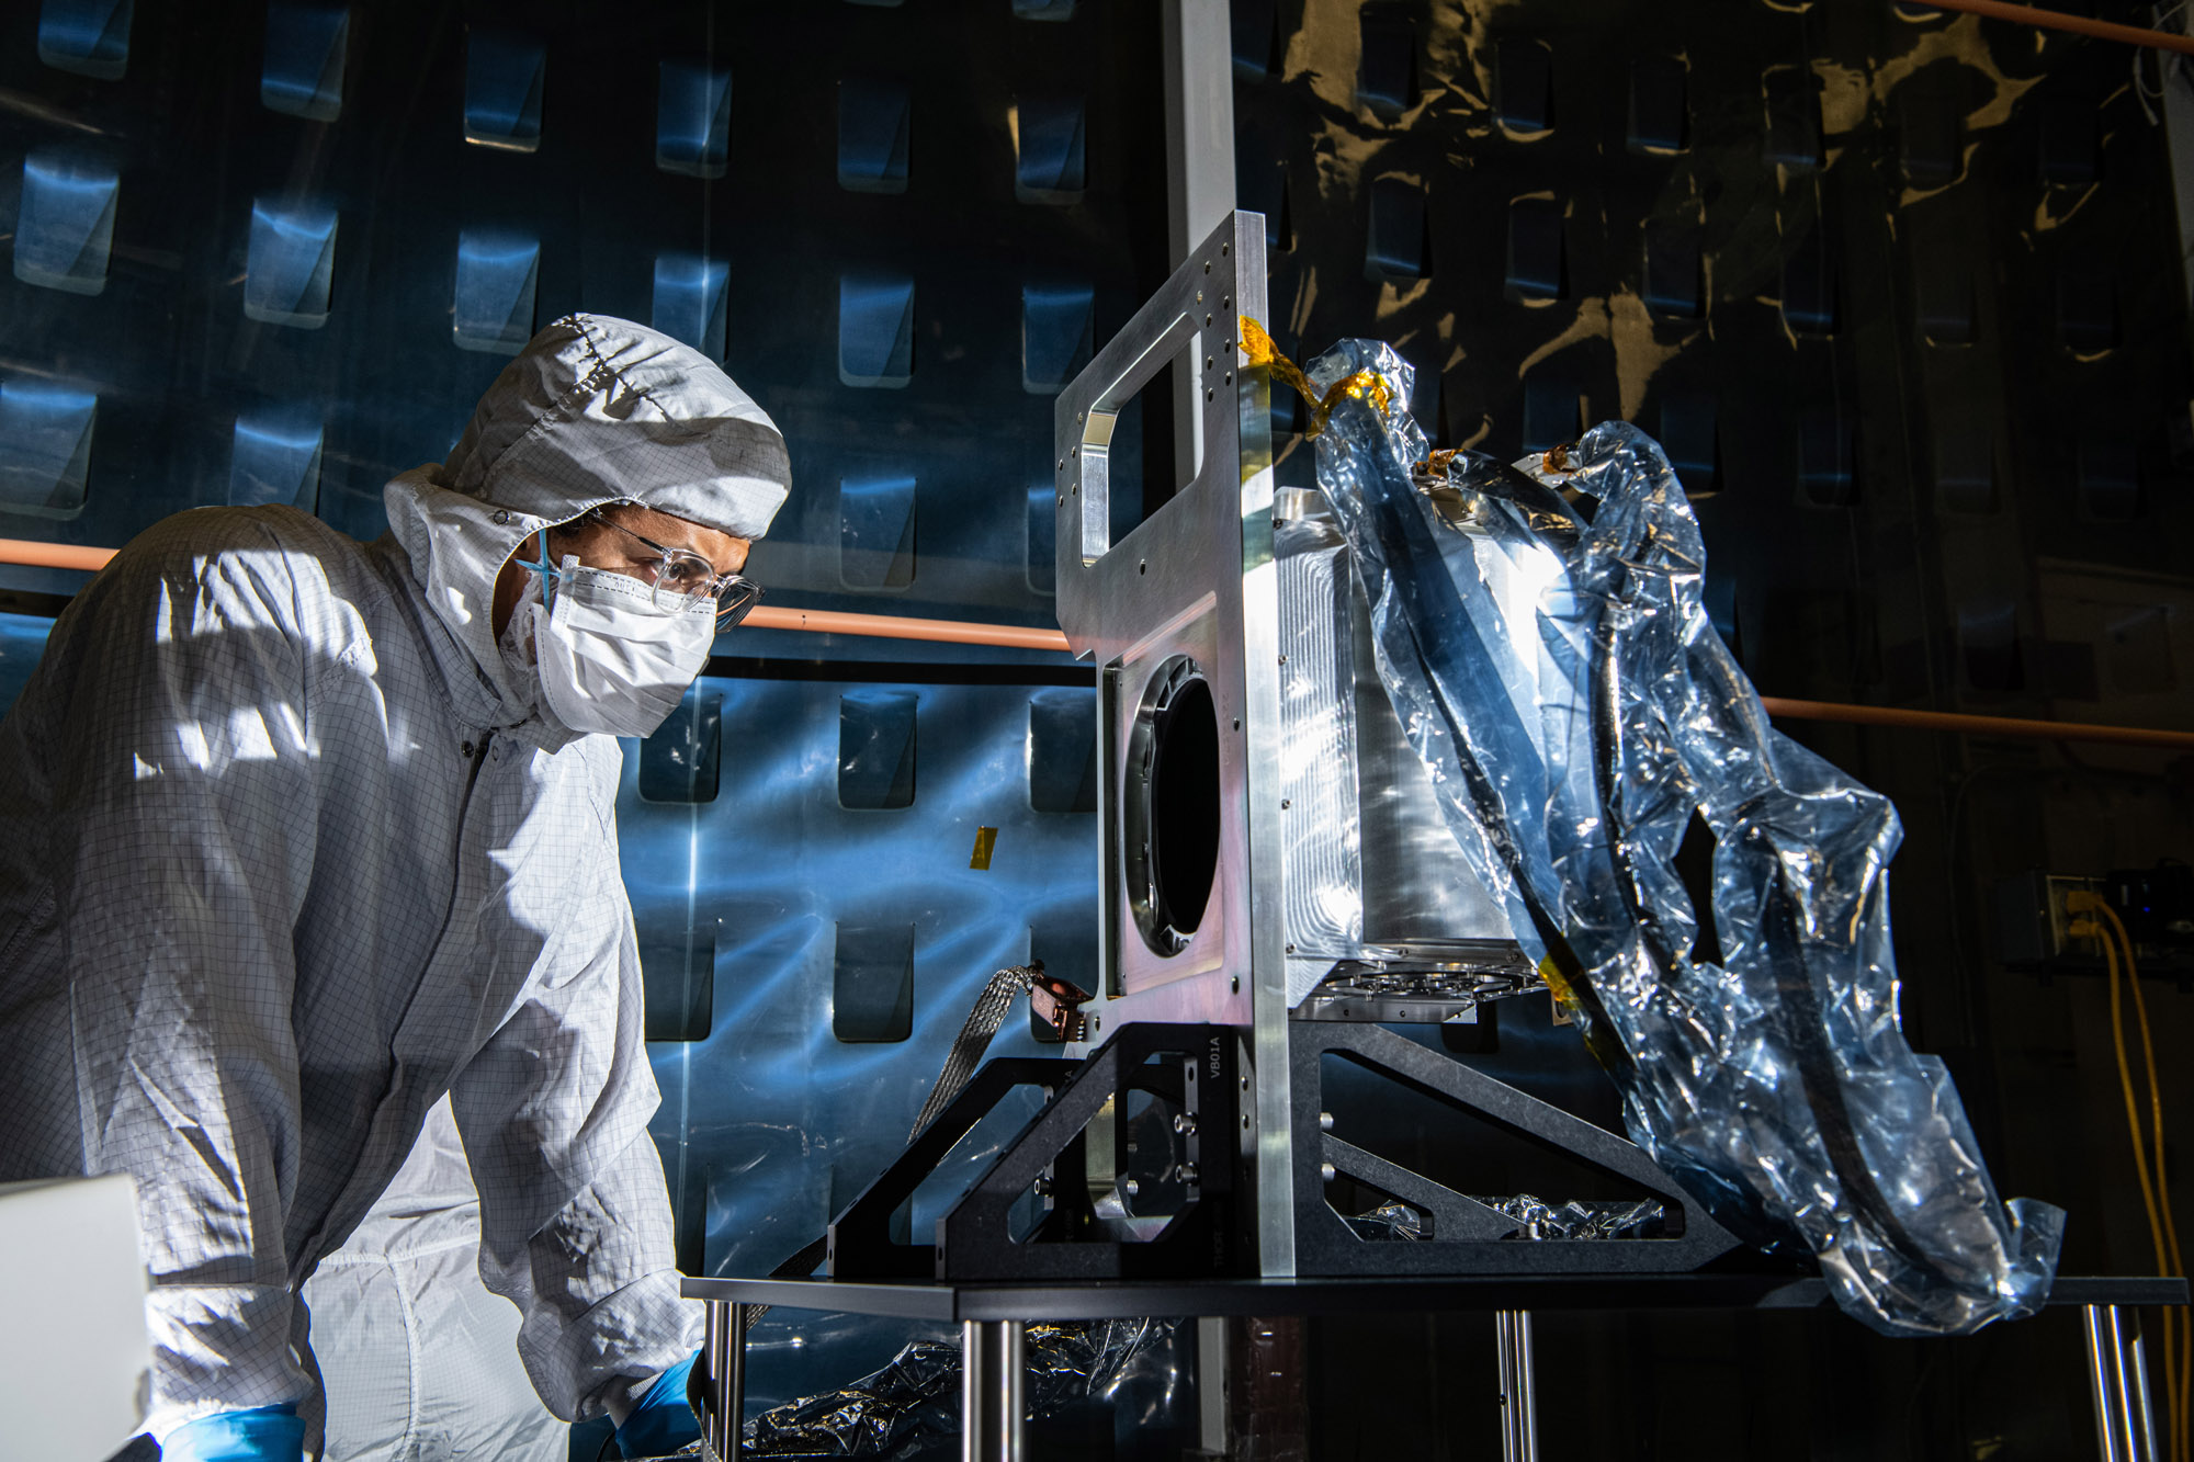
<svg viewBox="0 0 2194 1462">
<path fill-rule="evenodd" d="M 1115 1427 L 1132 1433 L 1167 1414 L 1187 1385 L 1174 1319 L 1033 1324 L 1025 1332 L 1025 1403 L 1044 1420 L 1084 1403 L 1126 1407 Z M 917 1339 L 882 1370 L 836 1392 L 772 1407 L 746 1422 L 748 1455 L 759 1458 L 928 1458 L 959 1455 L 961 1352 L 952 1341 Z"/>
</svg>

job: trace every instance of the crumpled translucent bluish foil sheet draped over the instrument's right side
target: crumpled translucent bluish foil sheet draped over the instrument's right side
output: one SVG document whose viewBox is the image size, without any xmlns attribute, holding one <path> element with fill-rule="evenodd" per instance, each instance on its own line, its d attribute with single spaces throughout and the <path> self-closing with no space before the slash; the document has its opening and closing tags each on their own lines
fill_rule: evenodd
<svg viewBox="0 0 2194 1462">
<path fill-rule="evenodd" d="M 1428 463 L 1406 411 L 1380 406 L 1411 400 L 1391 347 L 1347 340 L 1310 384 L 1336 400 L 1319 485 L 1373 601 L 1380 678 L 1632 1139 L 1731 1232 L 1810 1249 L 1876 1330 L 2036 1311 L 2065 1216 L 1997 1199 L 1948 1073 L 1898 1023 L 1896 810 L 1768 727 L 1707 621 L 1698 522 L 1661 448 L 1610 421 L 1527 470 Z M 1692 957 L 1670 865 L 1694 810 L 1716 839 L 1720 966 Z"/>
</svg>

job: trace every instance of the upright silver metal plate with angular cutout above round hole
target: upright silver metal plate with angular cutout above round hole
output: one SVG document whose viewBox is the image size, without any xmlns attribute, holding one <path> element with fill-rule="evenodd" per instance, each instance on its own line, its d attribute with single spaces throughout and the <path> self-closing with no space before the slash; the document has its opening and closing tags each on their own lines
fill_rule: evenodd
<svg viewBox="0 0 2194 1462">
<path fill-rule="evenodd" d="M 1189 4 L 1189 0 L 1185 0 Z M 1224 26 L 1220 26 L 1224 33 Z M 1235 1025 L 1251 1045 L 1259 1271 L 1294 1269 L 1281 937 L 1279 648 L 1270 393 L 1240 367 L 1237 316 L 1268 318 L 1264 220 L 1231 213 L 1060 393 L 1058 612 L 1099 676 L 1101 983 L 1088 1036 L 1119 1021 Z M 1196 384 L 1196 470 L 1112 542 L 1112 428 L 1163 367 Z M 1130 742 L 1150 683 L 1183 659 L 1218 729 L 1211 893 L 1185 940 L 1145 940 L 1126 887 Z M 1176 924 L 1178 926 L 1178 924 Z"/>
</svg>

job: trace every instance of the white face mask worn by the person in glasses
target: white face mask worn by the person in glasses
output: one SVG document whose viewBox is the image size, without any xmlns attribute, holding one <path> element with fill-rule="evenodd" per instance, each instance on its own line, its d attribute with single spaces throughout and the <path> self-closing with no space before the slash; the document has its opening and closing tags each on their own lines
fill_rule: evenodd
<svg viewBox="0 0 2194 1462">
<path fill-rule="evenodd" d="M 715 601 L 665 612 L 647 584 L 566 558 L 553 606 L 524 604 L 546 711 L 570 731 L 652 735 L 715 645 Z"/>
</svg>

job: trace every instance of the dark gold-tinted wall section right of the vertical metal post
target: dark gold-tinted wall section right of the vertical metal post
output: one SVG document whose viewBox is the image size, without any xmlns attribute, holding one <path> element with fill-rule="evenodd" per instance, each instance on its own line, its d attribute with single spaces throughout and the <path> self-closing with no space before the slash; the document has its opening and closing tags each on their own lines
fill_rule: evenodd
<svg viewBox="0 0 2194 1462">
<path fill-rule="evenodd" d="M 1764 694 L 2194 724 L 2194 380 L 2152 57 L 1887 2 L 1235 0 L 1233 66 L 1281 347 L 1393 340 L 1437 446 L 1656 432 Z M 1301 428 L 1290 400 L 1275 417 Z M 1281 474 L 1308 457 L 1297 435 Z M 2071 1210 L 2067 1271 L 2152 1271 L 2100 966 L 2005 968 L 1992 896 L 2187 858 L 2194 762 L 1784 729 L 1898 803 L 1904 1023 L 2003 1192 Z M 2152 972 L 2170 1126 L 2194 1120 L 2194 1019 L 2187 970 Z M 1509 1047 L 1527 1010 L 1503 1010 Z M 1955 1346 L 1832 1315 L 1540 1335 L 1547 1455 L 2093 1447 L 2065 1315 Z M 1494 1447 L 1477 1317 L 1327 1326 L 1312 1374 L 1316 1455 Z M 1411 1431 L 1371 1394 L 1448 1396 L 1457 1425 Z"/>
</svg>

